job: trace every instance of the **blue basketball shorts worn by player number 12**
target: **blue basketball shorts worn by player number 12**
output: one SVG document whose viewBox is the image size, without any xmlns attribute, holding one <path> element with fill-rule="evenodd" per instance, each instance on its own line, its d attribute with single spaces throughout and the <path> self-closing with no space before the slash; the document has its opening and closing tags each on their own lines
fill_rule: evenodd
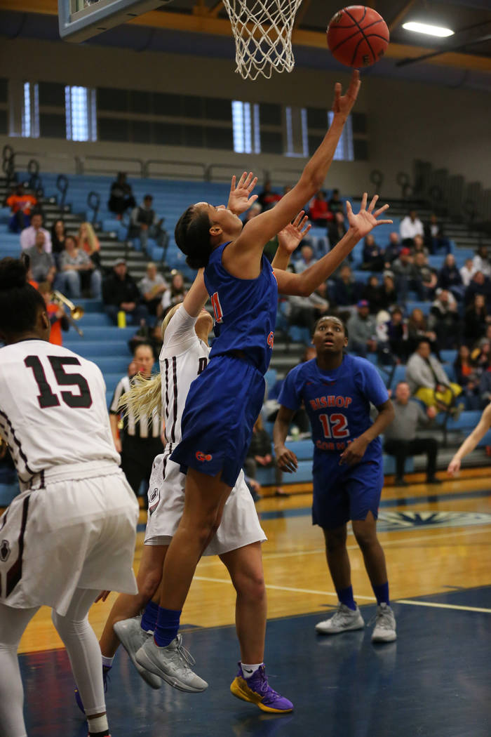
<svg viewBox="0 0 491 737">
<path fill-rule="evenodd" d="M 355 466 L 339 466 L 339 455 L 317 453 L 312 470 L 314 525 L 331 530 L 349 520 L 365 520 L 369 511 L 377 519 L 384 486 L 381 456 Z"/>
</svg>

